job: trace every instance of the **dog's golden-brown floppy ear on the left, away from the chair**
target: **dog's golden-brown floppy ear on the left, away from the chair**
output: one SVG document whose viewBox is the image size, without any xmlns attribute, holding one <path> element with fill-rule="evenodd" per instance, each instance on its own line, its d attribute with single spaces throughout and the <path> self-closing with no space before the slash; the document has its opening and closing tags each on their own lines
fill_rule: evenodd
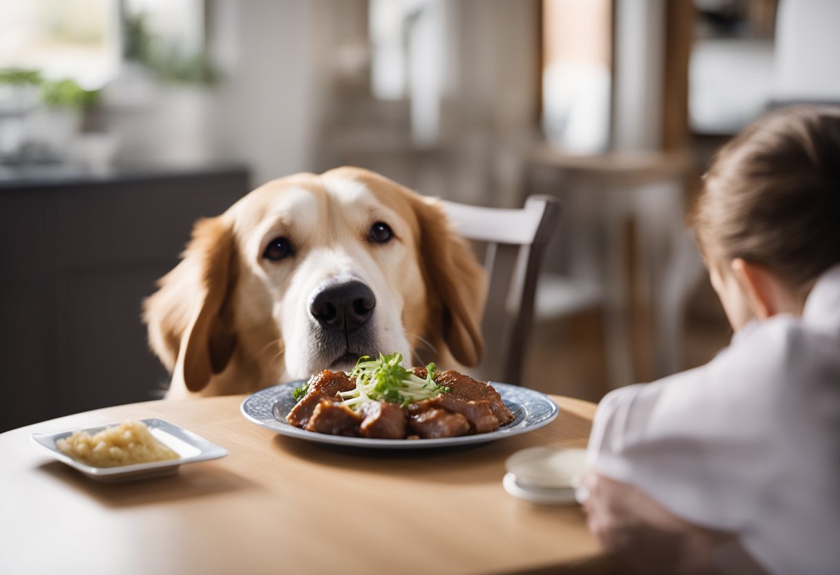
<svg viewBox="0 0 840 575">
<path fill-rule="evenodd" d="M 226 303 L 237 268 L 230 225 L 221 216 L 202 219 L 181 263 L 144 301 L 150 346 L 170 372 L 181 370 L 190 391 L 205 388 L 233 355 L 236 335 Z"/>
</svg>

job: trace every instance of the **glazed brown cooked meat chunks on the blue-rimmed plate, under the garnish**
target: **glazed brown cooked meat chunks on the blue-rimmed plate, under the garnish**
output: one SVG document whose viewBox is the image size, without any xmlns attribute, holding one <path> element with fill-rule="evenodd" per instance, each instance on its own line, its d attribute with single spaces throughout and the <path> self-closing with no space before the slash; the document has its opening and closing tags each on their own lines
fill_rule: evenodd
<svg viewBox="0 0 840 575">
<path fill-rule="evenodd" d="M 427 372 L 415 367 L 417 377 Z M 463 373 L 447 371 L 435 377 L 448 393 L 423 399 L 402 408 L 375 401 L 350 409 L 339 392 L 355 388 L 344 372 L 324 371 L 309 380 L 306 395 L 291 409 L 286 420 L 308 431 L 370 439 L 434 439 L 488 433 L 507 425 L 513 414 L 489 383 Z"/>
</svg>

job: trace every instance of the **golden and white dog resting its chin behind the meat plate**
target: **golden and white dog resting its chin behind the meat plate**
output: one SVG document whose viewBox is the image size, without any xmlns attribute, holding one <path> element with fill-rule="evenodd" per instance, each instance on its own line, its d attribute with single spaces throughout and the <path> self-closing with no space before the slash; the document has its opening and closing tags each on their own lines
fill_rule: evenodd
<svg viewBox="0 0 840 575">
<path fill-rule="evenodd" d="M 144 302 L 167 397 L 252 393 L 360 356 L 474 366 L 486 277 L 438 200 L 343 167 L 202 219 Z"/>
</svg>

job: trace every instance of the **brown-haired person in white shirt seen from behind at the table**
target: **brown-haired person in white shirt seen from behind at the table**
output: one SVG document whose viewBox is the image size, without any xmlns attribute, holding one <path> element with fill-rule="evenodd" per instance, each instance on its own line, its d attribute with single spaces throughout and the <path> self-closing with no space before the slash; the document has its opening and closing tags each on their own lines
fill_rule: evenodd
<svg viewBox="0 0 840 575">
<path fill-rule="evenodd" d="M 782 108 L 717 154 L 693 225 L 735 335 L 598 406 L 591 531 L 640 572 L 840 569 L 840 108 Z"/>
</svg>

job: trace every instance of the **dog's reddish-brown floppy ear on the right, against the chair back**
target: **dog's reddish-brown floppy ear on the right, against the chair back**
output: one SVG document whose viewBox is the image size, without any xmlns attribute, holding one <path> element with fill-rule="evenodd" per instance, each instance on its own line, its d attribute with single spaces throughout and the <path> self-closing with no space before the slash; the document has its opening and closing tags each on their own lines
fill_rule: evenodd
<svg viewBox="0 0 840 575">
<path fill-rule="evenodd" d="M 481 316 L 487 298 L 484 268 L 470 245 L 454 231 L 444 208 L 434 198 L 420 198 L 420 257 L 430 288 L 437 293 L 444 317 L 444 340 L 452 356 L 467 367 L 478 364 L 484 351 Z"/>
</svg>

